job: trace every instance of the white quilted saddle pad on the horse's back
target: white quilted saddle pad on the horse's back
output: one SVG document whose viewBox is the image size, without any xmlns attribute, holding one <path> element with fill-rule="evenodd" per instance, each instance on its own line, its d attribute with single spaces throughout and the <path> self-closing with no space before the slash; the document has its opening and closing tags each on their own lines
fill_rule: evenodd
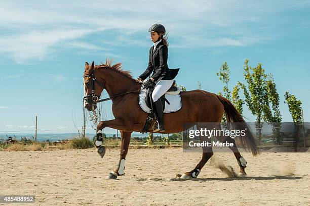
<svg viewBox="0 0 310 206">
<path fill-rule="evenodd" d="M 150 109 L 146 106 L 146 103 L 145 103 L 145 93 L 146 93 L 145 89 L 140 91 L 139 97 L 138 97 L 139 105 L 144 112 L 149 113 Z M 166 93 L 165 97 L 169 101 L 170 105 L 168 105 L 167 101 L 165 101 L 164 113 L 176 112 L 182 108 L 182 101 L 181 101 L 180 94 L 171 95 L 171 94 Z"/>
</svg>

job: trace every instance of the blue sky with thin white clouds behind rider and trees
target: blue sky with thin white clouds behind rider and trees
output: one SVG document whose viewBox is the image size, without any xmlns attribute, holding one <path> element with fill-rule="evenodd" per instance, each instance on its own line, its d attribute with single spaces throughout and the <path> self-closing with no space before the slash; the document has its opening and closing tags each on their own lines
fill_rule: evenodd
<svg viewBox="0 0 310 206">
<path fill-rule="evenodd" d="M 292 121 L 283 103 L 289 91 L 310 122 L 310 1 L 2 1 L 0 131 L 31 130 L 37 115 L 46 132 L 76 132 L 85 61 L 111 58 L 137 77 L 147 67 L 154 23 L 169 31 L 168 66 L 181 68 L 177 84 L 193 90 L 200 81 L 217 93 L 216 72 L 226 61 L 232 89 L 244 82 L 249 58 L 274 75 L 283 121 Z M 111 102 L 103 107 L 113 119 Z"/>
</svg>

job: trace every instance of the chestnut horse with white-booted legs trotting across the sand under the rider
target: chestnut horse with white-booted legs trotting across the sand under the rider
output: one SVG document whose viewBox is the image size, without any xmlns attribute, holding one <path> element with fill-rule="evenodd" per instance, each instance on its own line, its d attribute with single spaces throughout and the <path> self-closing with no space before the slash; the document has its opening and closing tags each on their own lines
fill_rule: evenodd
<svg viewBox="0 0 310 206">
<path fill-rule="evenodd" d="M 141 88 L 141 83 L 136 82 L 130 75 L 129 71 L 122 70 L 121 63 L 111 66 L 111 61 L 106 60 L 105 64 L 96 66 L 94 65 L 94 62 L 91 65 L 86 62 L 84 85 L 84 92 L 85 95 L 87 95 L 84 107 L 88 111 L 96 109 L 96 101 L 99 99 L 103 89 L 106 89 L 112 100 L 112 112 L 115 119 L 101 121 L 97 126 L 97 137 L 98 134 L 102 135 L 102 130 L 105 127 L 121 131 L 122 141 L 120 162 L 118 168 L 107 176 L 107 178 L 115 179 L 117 176 L 124 175 L 125 158 L 128 152 L 131 133 L 133 131 L 142 131 L 148 116 L 148 114 L 140 108 L 138 102 L 139 92 L 137 90 Z M 244 127 L 247 128 L 247 124 L 240 113 L 229 100 L 222 96 L 200 89 L 181 91 L 180 96 L 182 99 L 182 108 L 177 112 L 164 114 L 166 129 L 164 133 L 181 132 L 184 130 L 183 124 L 188 122 L 218 123 L 215 127 L 220 129 L 219 123 L 221 122 L 224 113 L 226 115 L 227 124 L 231 124 L 231 122 L 240 122 L 244 123 Z M 155 120 L 153 120 L 153 123 L 154 121 Z M 152 132 L 151 128 L 149 132 Z M 229 148 L 234 152 L 240 167 L 240 173 L 238 176 L 245 177 L 246 161 L 240 155 L 235 144 L 235 139 L 230 137 L 227 138 L 226 136 L 217 136 L 216 138 L 221 142 L 227 141 L 229 143 L 234 143 L 234 146 L 230 146 Z M 249 148 L 253 156 L 256 156 L 260 152 L 256 140 L 249 129 L 246 130 L 246 136 L 240 138 L 242 138 L 242 146 L 244 148 Z M 97 144 L 96 146 L 97 148 L 99 147 Z M 212 155 L 212 147 L 203 150 L 202 159 L 195 169 L 184 173 L 181 178 L 191 179 L 197 177 Z"/>
</svg>

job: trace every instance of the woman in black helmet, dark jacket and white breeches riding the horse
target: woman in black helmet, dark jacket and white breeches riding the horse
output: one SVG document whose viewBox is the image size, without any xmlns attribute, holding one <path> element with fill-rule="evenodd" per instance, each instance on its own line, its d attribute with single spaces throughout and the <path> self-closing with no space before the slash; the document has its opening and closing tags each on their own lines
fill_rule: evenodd
<svg viewBox="0 0 310 206">
<path fill-rule="evenodd" d="M 153 132 L 165 132 L 164 118 L 163 118 L 163 105 L 160 97 L 166 93 L 166 91 L 172 86 L 173 80 L 177 75 L 179 69 L 169 69 L 167 64 L 168 59 L 168 42 L 166 29 L 162 24 L 153 24 L 149 29 L 150 39 L 153 42 L 153 46 L 149 49 L 148 67 L 146 70 L 136 79 L 139 81 L 150 81 L 156 83 L 152 92 L 152 100 L 155 105 L 155 114 L 157 118 L 157 126 L 154 124 L 152 127 Z M 152 73 L 152 76 L 148 79 L 148 75 Z"/>
</svg>

